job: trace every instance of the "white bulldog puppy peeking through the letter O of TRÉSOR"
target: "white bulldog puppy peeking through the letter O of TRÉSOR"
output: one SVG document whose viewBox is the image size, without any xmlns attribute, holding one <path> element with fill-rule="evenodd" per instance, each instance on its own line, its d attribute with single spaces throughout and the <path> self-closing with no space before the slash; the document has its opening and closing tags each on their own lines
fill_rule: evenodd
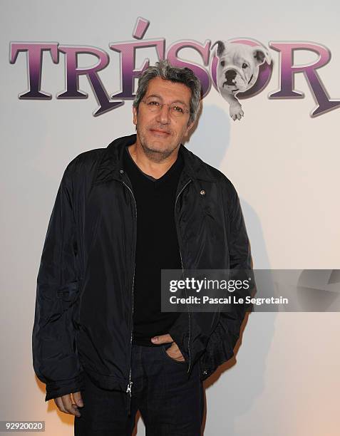
<svg viewBox="0 0 340 436">
<path fill-rule="evenodd" d="M 216 44 L 219 58 L 217 86 L 222 97 L 230 104 L 232 119 L 240 120 L 244 112 L 236 94 L 252 88 L 259 76 L 259 66 L 265 61 L 270 65 L 272 57 L 267 48 L 262 46 L 216 41 L 212 47 Z"/>
</svg>

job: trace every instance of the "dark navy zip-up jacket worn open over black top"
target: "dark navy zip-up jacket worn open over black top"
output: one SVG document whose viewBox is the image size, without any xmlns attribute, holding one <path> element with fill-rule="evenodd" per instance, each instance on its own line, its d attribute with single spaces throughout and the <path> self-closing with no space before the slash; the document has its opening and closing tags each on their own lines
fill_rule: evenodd
<svg viewBox="0 0 340 436">
<path fill-rule="evenodd" d="M 81 153 L 66 167 L 38 271 L 33 362 L 46 401 L 81 390 L 83 371 L 130 392 L 136 207 L 123 170 L 136 136 Z M 184 269 L 252 269 L 239 198 L 230 180 L 180 145 L 184 168 L 175 223 Z M 203 192 L 203 194 L 202 194 Z M 169 333 L 201 379 L 229 360 L 245 315 L 181 313 Z"/>
</svg>

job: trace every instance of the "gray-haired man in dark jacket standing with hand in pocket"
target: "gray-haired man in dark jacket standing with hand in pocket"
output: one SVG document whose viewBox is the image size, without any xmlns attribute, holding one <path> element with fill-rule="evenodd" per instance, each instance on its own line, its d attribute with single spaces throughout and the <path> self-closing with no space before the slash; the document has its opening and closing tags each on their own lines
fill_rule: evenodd
<svg viewBox="0 0 340 436">
<path fill-rule="evenodd" d="M 237 192 L 182 140 L 200 108 L 189 68 L 140 77 L 136 135 L 63 174 L 38 272 L 34 370 L 76 435 L 200 435 L 202 380 L 230 359 L 244 318 L 160 310 L 161 269 L 251 269 Z"/>
</svg>

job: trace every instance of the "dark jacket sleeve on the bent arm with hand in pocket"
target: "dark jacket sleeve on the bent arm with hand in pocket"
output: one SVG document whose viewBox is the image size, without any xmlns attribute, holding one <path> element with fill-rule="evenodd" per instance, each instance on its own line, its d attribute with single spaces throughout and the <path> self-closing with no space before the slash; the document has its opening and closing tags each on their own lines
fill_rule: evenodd
<svg viewBox="0 0 340 436">
<path fill-rule="evenodd" d="M 249 279 L 250 277 L 249 290 L 242 291 L 242 295 L 236 295 L 236 298 L 237 296 L 245 298 L 252 296 L 255 289 L 249 239 L 239 197 L 229 180 L 223 184 L 222 192 L 230 255 L 230 277 L 233 277 L 233 271 L 235 279 Z M 232 305 L 230 311 L 221 311 L 217 327 L 207 343 L 206 358 L 213 360 L 207 366 L 217 368 L 218 365 L 232 358 L 247 311 L 251 311 L 251 306 L 246 303 Z"/>
</svg>

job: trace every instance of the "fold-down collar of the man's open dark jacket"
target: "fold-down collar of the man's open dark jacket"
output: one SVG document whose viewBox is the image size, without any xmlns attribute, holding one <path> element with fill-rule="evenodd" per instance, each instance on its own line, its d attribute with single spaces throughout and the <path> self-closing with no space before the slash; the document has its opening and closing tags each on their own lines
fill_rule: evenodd
<svg viewBox="0 0 340 436">
<path fill-rule="evenodd" d="M 108 182 L 109 180 L 122 180 L 123 170 L 123 152 L 125 147 L 133 145 L 136 141 L 136 134 L 119 137 L 113 142 L 110 142 L 108 147 L 103 150 L 103 155 L 98 163 L 96 175 L 93 180 L 93 185 L 98 183 Z M 206 180 L 207 182 L 215 182 L 217 179 L 212 176 L 208 170 L 207 164 L 200 157 L 187 150 L 184 145 L 180 145 L 180 153 L 182 153 L 184 169 L 187 175 L 192 179 Z"/>
</svg>

